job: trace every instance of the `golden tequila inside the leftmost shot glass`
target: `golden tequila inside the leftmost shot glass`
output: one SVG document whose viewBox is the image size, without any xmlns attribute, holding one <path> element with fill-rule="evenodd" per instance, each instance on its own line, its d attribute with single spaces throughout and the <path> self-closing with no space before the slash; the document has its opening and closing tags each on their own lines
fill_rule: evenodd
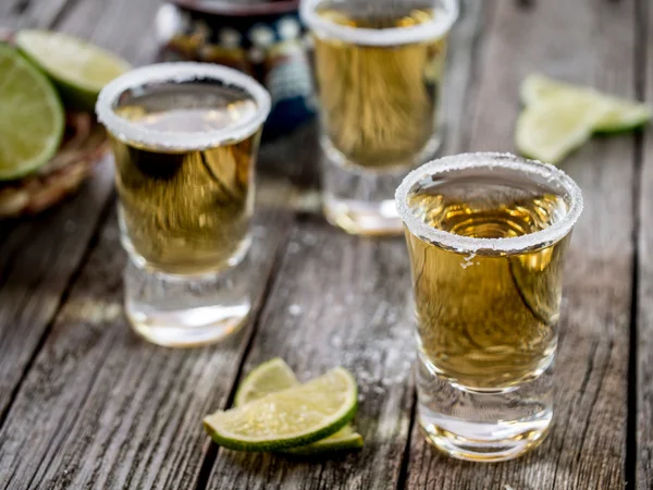
<svg viewBox="0 0 653 490">
<path fill-rule="evenodd" d="M 115 113 L 147 130 L 193 135 L 229 130 L 256 110 L 238 90 L 189 86 L 130 98 Z M 146 267 L 197 274 L 224 269 L 246 250 L 259 135 L 197 149 L 112 138 L 127 246 Z"/>
</svg>

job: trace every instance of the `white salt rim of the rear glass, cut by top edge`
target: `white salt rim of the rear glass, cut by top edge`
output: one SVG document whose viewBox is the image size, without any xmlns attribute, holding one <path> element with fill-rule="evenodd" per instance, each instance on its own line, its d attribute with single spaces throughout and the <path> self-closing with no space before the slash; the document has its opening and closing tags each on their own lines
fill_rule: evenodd
<svg viewBox="0 0 653 490">
<path fill-rule="evenodd" d="M 299 7 L 301 20 L 313 34 L 319 37 L 335 37 L 354 45 L 391 46 L 420 42 L 444 36 L 458 19 L 458 1 L 443 0 L 447 19 L 445 22 L 430 22 L 411 27 L 392 27 L 385 29 L 370 29 L 352 27 L 325 21 L 316 13 L 316 8 L 324 0 L 304 0 Z"/>
</svg>

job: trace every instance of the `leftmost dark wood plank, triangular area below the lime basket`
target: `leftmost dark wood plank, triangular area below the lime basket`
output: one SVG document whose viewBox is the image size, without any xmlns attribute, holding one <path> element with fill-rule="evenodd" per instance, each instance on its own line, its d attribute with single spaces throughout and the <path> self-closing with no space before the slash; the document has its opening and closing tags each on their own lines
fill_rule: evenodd
<svg viewBox="0 0 653 490">
<path fill-rule="evenodd" d="M 0 225 L 0 415 L 82 260 L 112 174 L 106 161 L 70 203 Z"/>
</svg>

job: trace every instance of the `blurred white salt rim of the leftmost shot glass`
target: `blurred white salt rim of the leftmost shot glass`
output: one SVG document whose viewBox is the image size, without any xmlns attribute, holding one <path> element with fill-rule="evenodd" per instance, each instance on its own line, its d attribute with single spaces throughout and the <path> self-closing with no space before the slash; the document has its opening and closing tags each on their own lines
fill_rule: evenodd
<svg viewBox="0 0 653 490">
<path fill-rule="evenodd" d="M 114 102 L 128 89 L 149 83 L 175 82 L 184 83 L 201 78 L 214 78 L 229 85 L 238 86 L 248 91 L 256 101 L 257 111 L 249 119 L 238 122 L 225 130 L 207 131 L 206 133 L 178 133 L 159 131 L 128 121 L 114 112 Z M 96 114 L 109 132 L 116 138 L 137 143 L 144 146 L 156 146 L 165 149 L 190 150 L 217 146 L 229 140 L 243 140 L 251 136 L 266 121 L 270 113 L 270 94 L 254 78 L 226 66 L 209 63 L 178 62 L 150 64 L 132 70 L 111 81 L 102 90 L 96 102 Z"/>
</svg>

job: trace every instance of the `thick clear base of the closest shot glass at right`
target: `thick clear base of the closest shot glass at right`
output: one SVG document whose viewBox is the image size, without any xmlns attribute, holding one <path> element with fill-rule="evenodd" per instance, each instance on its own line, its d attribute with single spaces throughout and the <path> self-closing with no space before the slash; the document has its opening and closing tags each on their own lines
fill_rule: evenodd
<svg viewBox="0 0 653 490">
<path fill-rule="evenodd" d="M 453 383 L 419 362 L 418 419 L 427 440 L 458 460 L 500 462 L 537 448 L 553 418 L 552 366 L 495 392 Z"/>
</svg>

